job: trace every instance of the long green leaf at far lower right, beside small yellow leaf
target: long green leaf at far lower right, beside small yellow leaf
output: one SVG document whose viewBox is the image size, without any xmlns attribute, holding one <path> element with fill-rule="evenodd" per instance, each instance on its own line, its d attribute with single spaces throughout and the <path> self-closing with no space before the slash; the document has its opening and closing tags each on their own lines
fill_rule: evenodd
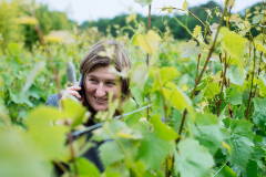
<svg viewBox="0 0 266 177">
<path fill-rule="evenodd" d="M 231 143 L 233 153 L 227 154 L 231 164 L 236 164 L 242 168 L 246 168 L 248 159 L 253 153 L 253 138 L 254 134 L 249 131 L 253 124 L 246 119 L 232 119 L 231 121 Z"/>
</svg>

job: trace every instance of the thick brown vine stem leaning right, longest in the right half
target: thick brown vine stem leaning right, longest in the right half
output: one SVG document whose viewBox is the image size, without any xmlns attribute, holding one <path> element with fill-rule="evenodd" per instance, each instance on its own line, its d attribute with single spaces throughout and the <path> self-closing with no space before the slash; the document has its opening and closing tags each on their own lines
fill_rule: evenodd
<svg viewBox="0 0 266 177">
<path fill-rule="evenodd" d="M 226 0 L 226 3 L 225 3 L 225 4 L 226 4 L 226 6 L 228 4 L 228 0 Z M 204 66 L 203 66 L 203 69 L 202 69 L 202 72 L 201 72 L 198 79 L 196 80 L 196 83 L 195 83 L 195 85 L 194 85 L 194 88 L 193 88 L 193 91 L 192 91 L 192 93 L 191 93 L 191 98 L 194 96 L 195 91 L 196 91 L 196 86 L 198 85 L 198 83 L 200 83 L 200 81 L 201 81 L 201 79 L 202 79 L 202 75 L 203 75 L 203 73 L 204 73 L 204 71 L 205 71 L 205 69 L 206 69 L 206 66 L 207 66 L 207 63 L 208 63 L 208 61 L 209 61 L 209 59 L 211 59 L 211 56 L 212 56 L 212 53 L 214 52 L 214 46 L 215 46 L 215 43 L 216 43 L 216 40 L 217 40 L 217 37 L 218 37 L 218 32 L 219 32 L 219 29 L 221 29 L 222 23 L 223 23 L 223 20 L 224 20 L 224 14 L 225 14 L 225 11 L 226 11 L 226 6 L 225 6 L 224 11 L 223 11 L 223 14 L 222 14 L 222 17 L 221 17 L 219 24 L 218 24 L 218 29 L 217 29 L 217 32 L 216 32 L 216 34 L 215 34 L 215 39 L 214 39 L 214 41 L 213 41 L 213 44 L 212 44 L 212 46 L 211 46 L 211 49 L 209 49 L 207 59 L 206 59 L 206 61 L 205 61 L 205 63 L 204 63 Z M 187 111 L 185 110 L 184 113 L 183 113 L 182 122 L 181 122 L 181 126 L 180 126 L 180 132 L 178 132 L 178 135 L 180 135 L 180 136 L 178 136 L 178 138 L 175 140 L 176 143 L 178 143 L 180 139 L 181 139 L 181 133 L 182 133 L 182 129 L 183 129 L 183 126 L 184 126 L 184 122 L 185 122 L 186 114 L 187 114 Z"/>
</svg>

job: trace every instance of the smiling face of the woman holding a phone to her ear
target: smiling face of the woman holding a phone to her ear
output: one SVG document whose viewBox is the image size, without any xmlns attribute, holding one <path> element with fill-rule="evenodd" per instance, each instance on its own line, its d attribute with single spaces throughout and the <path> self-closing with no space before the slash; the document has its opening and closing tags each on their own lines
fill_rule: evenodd
<svg viewBox="0 0 266 177">
<path fill-rule="evenodd" d="M 121 84 L 120 84 L 121 85 Z M 109 106 L 109 93 L 113 92 L 113 100 L 117 98 L 115 75 L 110 73 L 110 66 L 95 66 L 85 77 L 85 96 L 94 111 L 106 111 Z M 120 86 L 121 91 L 121 86 Z"/>
</svg>

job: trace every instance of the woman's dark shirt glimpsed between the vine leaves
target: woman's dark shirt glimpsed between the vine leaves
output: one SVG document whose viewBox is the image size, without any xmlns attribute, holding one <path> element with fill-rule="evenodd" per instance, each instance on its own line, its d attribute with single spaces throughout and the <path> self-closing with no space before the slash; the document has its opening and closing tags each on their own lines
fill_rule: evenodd
<svg viewBox="0 0 266 177">
<path fill-rule="evenodd" d="M 54 107 L 59 107 L 59 94 L 53 94 L 51 95 L 48 100 L 47 103 L 44 105 L 50 105 L 50 106 L 54 106 Z M 85 126 L 92 126 L 95 125 L 93 118 L 90 118 L 88 121 L 88 123 L 84 124 Z M 90 138 L 92 137 L 92 132 L 85 132 L 79 136 L 74 136 L 73 138 L 76 139 L 78 137 L 82 136 L 86 134 L 86 142 L 90 140 Z M 90 148 L 84 155 L 83 157 L 85 157 L 86 159 L 89 159 L 90 162 L 92 162 L 98 168 L 99 170 L 102 173 L 103 171 L 103 165 L 99 155 L 99 146 L 101 145 L 101 143 L 96 143 L 95 147 Z M 58 169 L 57 169 L 58 170 Z M 59 173 L 60 174 L 60 173 Z"/>
</svg>

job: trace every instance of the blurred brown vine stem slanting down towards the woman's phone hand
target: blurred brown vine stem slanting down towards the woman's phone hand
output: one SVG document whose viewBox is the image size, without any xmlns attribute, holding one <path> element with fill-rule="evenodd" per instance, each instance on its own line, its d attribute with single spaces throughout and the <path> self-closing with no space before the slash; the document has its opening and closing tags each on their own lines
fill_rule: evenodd
<svg viewBox="0 0 266 177">
<path fill-rule="evenodd" d="M 37 19 L 35 12 L 34 12 L 34 10 L 31 9 L 31 8 L 30 8 L 30 13 L 31 13 L 31 15 L 32 15 L 33 18 Z M 35 31 L 37 31 L 37 33 L 38 33 L 38 37 L 39 37 L 40 41 L 41 41 L 41 44 L 44 46 L 45 52 L 47 52 L 47 54 L 48 54 L 48 59 L 49 59 L 49 62 L 51 63 L 51 67 L 52 67 L 54 81 L 55 81 L 55 83 L 57 83 L 58 94 L 59 94 L 59 97 L 61 97 L 58 71 L 57 71 L 57 67 L 55 67 L 54 62 L 53 62 L 53 60 L 52 60 L 51 52 L 50 52 L 50 50 L 49 50 L 49 48 L 48 48 L 48 45 L 47 45 L 47 42 L 45 42 L 45 40 L 44 40 L 44 38 L 43 38 L 43 33 L 42 33 L 42 30 L 41 30 L 41 27 L 40 27 L 39 23 L 35 24 Z"/>
</svg>

